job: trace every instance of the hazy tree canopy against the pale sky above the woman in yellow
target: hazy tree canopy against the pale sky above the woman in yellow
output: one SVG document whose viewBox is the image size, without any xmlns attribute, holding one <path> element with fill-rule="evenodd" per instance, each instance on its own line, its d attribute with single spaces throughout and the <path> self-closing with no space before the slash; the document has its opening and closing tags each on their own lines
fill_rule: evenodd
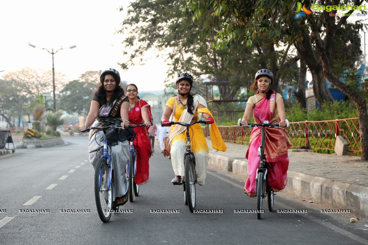
<svg viewBox="0 0 368 245">
<path fill-rule="evenodd" d="M 218 29 L 218 20 L 211 17 L 210 9 L 203 18 L 193 21 L 190 12 L 181 11 L 182 0 L 138 0 L 131 3 L 128 16 L 118 33 L 128 35 L 123 41 L 133 49 L 123 69 L 144 62 L 142 56 L 148 50 L 166 57 L 170 69 L 168 77 L 180 72 L 190 72 L 196 83 L 202 77 L 211 81 L 228 81 L 231 87 L 220 91 L 222 99 L 232 99 L 240 86 L 253 80 L 253 71 L 245 67 L 252 65 L 252 49 L 233 44 L 231 50 L 216 50 L 211 46 Z M 128 54 L 127 51 L 124 53 Z M 255 70 L 255 69 L 254 69 Z M 196 85 L 197 86 L 197 85 Z"/>
</svg>

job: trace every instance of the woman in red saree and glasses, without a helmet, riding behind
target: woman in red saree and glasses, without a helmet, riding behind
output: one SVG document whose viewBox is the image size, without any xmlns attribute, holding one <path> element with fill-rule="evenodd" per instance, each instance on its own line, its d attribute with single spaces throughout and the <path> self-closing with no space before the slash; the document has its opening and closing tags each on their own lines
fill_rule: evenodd
<svg viewBox="0 0 368 245">
<path fill-rule="evenodd" d="M 134 138 L 134 149 L 137 149 L 137 172 L 134 181 L 142 185 L 149 180 L 149 156 L 151 155 L 151 144 L 148 137 L 148 125 L 151 123 L 151 107 L 146 101 L 138 98 L 138 88 L 135 84 L 128 84 L 126 94 L 129 98 L 129 123 L 131 125 L 144 123 L 147 127 L 133 128 L 137 135 Z"/>
</svg>

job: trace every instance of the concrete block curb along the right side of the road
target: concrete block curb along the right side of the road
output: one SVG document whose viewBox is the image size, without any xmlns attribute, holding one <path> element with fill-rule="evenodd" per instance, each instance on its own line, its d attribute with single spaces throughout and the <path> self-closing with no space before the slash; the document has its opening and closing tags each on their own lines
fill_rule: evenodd
<svg viewBox="0 0 368 245">
<path fill-rule="evenodd" d="M 209 166 L 248 177 L 248 162 L 209 153 Z M 352 213 L 368 218 L 368 187 L 288 171 L 284 191 L 306 200 L 323 203 L 335 209 L 350 209 Z"/>
</svg>

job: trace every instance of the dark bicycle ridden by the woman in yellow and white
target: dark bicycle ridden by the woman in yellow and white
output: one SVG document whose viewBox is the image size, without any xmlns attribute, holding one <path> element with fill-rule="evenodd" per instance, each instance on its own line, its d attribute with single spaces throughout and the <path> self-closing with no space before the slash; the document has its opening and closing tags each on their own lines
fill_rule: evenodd
<svg viewBox="0 0 368 245">
<path fill-rule="evenodd" d="M 183 185 L 184 191 L 184 204 L 188 205 L 190 212 L 194 212 L 195 209 L 195 184 L 197 183 L 197 172 L 195 168 L 195 156 L 194 152 L 190 148 L 190 135 L 189 127 L 196 123 L 206 123 L 209 120 L 198 120 L 193 123 L 183 123 L 183 122 L 170 122 L 170 125 L 178 124 L 187 127 L 187 148 L 184 154 L 184 176 L 181 176 L 181 181 L 174 185 Z M 168 124 L 168 123 L 166 123 Z"/>
</svg>

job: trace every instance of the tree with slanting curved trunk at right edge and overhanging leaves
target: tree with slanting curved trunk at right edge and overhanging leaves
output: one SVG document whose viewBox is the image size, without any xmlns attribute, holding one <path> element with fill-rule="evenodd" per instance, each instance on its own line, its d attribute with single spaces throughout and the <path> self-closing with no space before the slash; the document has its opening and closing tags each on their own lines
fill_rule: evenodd
<svg viewBox="0 0 368 245">
<path fill-rule="evenodd" d="M 360 6 L 362 2 L 362 0 L 344 1 L 342 4 Z M 293 8 L 296 1 L 293 0 L 256 1 L 254 5 L 247 3 L 250 6 L 253 6 L 251 8 L 252 15 L 249 14 L 248 10 L 245 10 L 245 4 L 243 1 L 187 0 L 187 3 L 188 6 L 194 10 L 194 15 L 196 17 L 198 17 L 198 15 L 200 16 L 202 9 L 207 8 L 207 6 L 204 7 L 203 4 L 210 4 L 214 9 L 215 15 L 225 17 L 222 18 L 223 21 L 226 22 L 225 28 L 217 33 L 217 36 L 220 39 L 219 43 L 230 42 L 230 40 L 245 37 L 249 41 L 247 41 L 248 44 L 251 44 L 251 40 L 254 36 L 258 35 L 257 30 L 266 31 L 275 37 L 279 37 L 280 35 L 283 36 L 283 33 L 288 33 L 288 42 L 293 43 L 301 54 L 305 54 L 303 52 L 304 50 L 307 50 L 308 55 L 314 57 L 312 60 L 305 60 L 309 69 L 311 69 L 311 72 L 312 70 L 318 70 L 319 72 L 315 73 L 315 75 L 321 74 L 323 78 L 328 79 L 335 87 L 343 91 L 346 96 L 354 101 L 359 118 L 362 148 L 361 159 L 368 159 L 367 101 L 365 101 L 356 90 L 353 90 L 349 85 L 336 78 L 331 68 L 331 64 L 334 62 L 332 55 L 333 46 L 339 43 L 334 41 L 339 38 L 339 31 L 344 33 L 342 31 L 344 28 L 348 31 L 351 31 L 351 28 L 359 28 L 359 26 L 347 23 L 347 18 L 353 10 L 349 10 L 347 12 L 348 15 L 336 18 L 329 18 L 329 13 L 336 14 L 337 10 L 332 10 L 331 12 L 316 11 L 315 14 L 309 13 L 307 16 L 307 22 L 304 23 L 304 20 L 295 20 L 296 18 Z M 322 3 L 325 5 L 338 5 L 341 4 L 341 1 L 323 1 Z M 310 1 L 306 1 L 306 4 L 308 6 Z M 277 11 L 279 11 L 279 14 L 283 17 L 285 22 L 282 25 L 279 23 L 277 26 L 275 25 L 276 22 L 271 21 L 270 23 L 273 25 L 262 26 L 265 24 L 264 20 L 272 20 L 271 17 Z M 245 23 L 245 19 L 250 21 L 247 22 L 245 27 L 243 27 L 239 23 Z M 311 34 L 309 35 L 309 33 Z M 317 101 L 319 102 L 321 100 L 320 96 L 326 93 L 326 86 L 321 82 L 320 78 L 313 79 L 315 82 L 314 87 L 316 87 L 316 96 L 319 97 L 317 98 Z"/>
</svg>

